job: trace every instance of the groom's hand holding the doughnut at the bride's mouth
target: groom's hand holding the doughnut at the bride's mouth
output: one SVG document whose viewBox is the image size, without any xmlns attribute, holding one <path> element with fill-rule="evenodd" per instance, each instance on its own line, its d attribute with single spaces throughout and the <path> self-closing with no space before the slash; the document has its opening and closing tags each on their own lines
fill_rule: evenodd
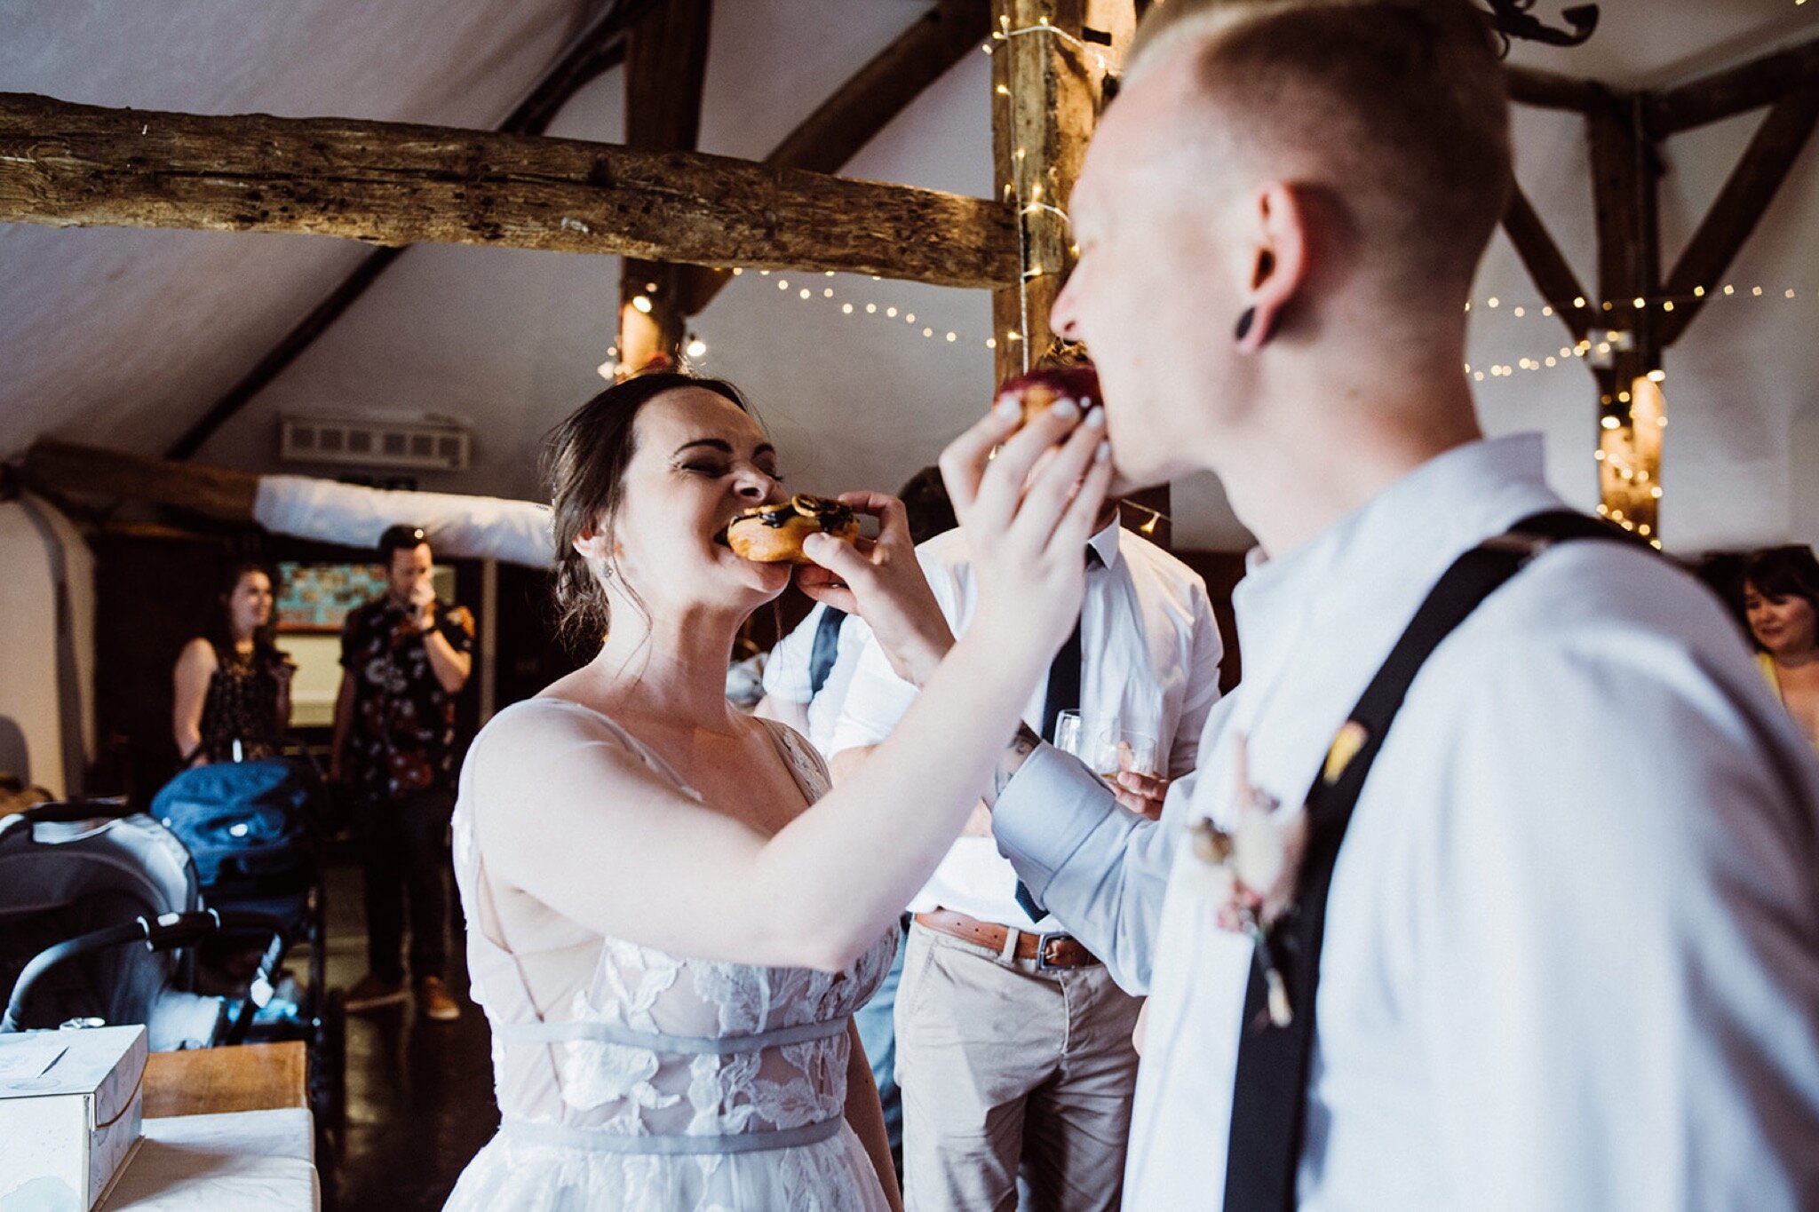
<svg viewBox="0 0 1819 1212">
<path fill-rule="evenodd" d="M 802 552 L 817 563 L 797 572 L 797 587 L 866 620 L 897 676 L 922 685 L 953 647 L 953 632 L 915 558 L 904 503 L 884 492 L 842 492 L 840 502 L 877 518 L 879 536 L 851 543 L 808 536 Z"/>
</svg>

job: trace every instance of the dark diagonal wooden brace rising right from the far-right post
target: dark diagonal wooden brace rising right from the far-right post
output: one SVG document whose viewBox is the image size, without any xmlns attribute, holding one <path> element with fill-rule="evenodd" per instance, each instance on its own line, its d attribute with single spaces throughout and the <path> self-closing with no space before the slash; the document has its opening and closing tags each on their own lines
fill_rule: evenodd
<svg viewBox="0 0 1819 1212">
<path fill-rule="evenodd" d="M 1799 93 L 1777 102 L 1755 136 L 1744 149 L 1737 167 L 1724 180 L 1712 209 L 1699 222 L 1693 238 L 1686 242 L 1681 260 L 1668 273 L 1663 294 L 1673 296 L 1675 311 L 1661 320 L 1661 343 L 1672 345 L 1693 322 L 1719 278 L 1730 269 L 1750 233 L 1774 202 L 1788 169 L 1812 138 L 1819 122 L 1819 84 L 1808 84 Z M 1693 294 L 1703 289 L 1703 294 Z"/>
</svg>

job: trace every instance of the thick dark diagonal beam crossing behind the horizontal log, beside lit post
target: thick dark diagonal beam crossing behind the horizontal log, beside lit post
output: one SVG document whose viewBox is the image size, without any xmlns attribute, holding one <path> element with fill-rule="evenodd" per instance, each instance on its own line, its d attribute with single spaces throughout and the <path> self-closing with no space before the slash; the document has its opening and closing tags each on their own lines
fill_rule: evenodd
<svg viewBox="0 0 1819 1212">
<path fill-rule="evenodd" d="M 789 131 L 764 164 L 840 171 L 910 102 L 986 38 L 990 11 L 990 0 L 940 0 Z M 682 313 L 698 314 L 731 280 L 729 269 L 689 267 L 678 285 Z"/>
</svg>

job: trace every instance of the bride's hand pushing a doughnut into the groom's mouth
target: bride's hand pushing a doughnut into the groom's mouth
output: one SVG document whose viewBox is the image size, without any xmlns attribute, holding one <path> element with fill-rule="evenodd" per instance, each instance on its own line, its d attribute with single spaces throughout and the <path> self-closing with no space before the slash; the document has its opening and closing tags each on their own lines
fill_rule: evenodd
<svg viewBox="0 0 1819 1212">
<path fill-rule="evenodd" d="M 1099 409 L 1082 420 L 1062 400 L 1013 434 L 1017 420 L 1015 403 L 995 407 L 942 452 L 940 474 L 979 583 L 971 627 L 995 651 L 1050 660 L 1080 616 L 1111 449 Z"/>
</svg>

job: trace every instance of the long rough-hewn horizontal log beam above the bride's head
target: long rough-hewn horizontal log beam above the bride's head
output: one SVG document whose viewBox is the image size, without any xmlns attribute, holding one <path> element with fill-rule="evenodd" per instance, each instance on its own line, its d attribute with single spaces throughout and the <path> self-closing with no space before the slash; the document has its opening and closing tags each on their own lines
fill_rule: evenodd
<svg viewBox="0 0 1819 1212">
<path fill-rule="evenodd" d="M 0 222 L 284 231 L 698 265 L 1017 278 L 1010 207 L 698 153 L 0 93 Z"/>
</svg>

